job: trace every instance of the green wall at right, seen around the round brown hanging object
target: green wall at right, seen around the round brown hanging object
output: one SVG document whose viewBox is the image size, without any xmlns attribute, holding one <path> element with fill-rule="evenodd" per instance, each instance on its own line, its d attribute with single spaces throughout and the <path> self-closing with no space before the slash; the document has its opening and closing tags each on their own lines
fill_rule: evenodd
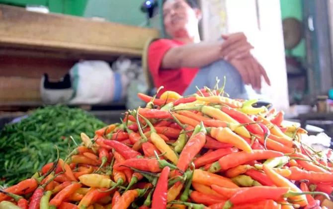
<svg viewBox="0 0 333 209">
<path fill-rule="evenodd" d="M 302 0 L 280 0 L 281 4 L 281 16 L 282 19 L 286 17 L 295 17 L 302 21 L 303 11 L 302 11 Z M 293 49 L 291 50 L 292 55 L 299 56 L 305 59 L 306 57 L 306 48 L 304 39 Z"/>
</svg>

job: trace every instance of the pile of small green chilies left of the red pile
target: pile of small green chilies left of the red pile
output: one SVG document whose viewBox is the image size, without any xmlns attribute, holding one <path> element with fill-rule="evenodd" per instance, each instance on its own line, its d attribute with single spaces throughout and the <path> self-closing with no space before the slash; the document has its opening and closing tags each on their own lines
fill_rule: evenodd
<svg viewBox="0 0 333 209">
<path fill-rule="evenodd" d="M 0 185 L 13 185 L 31 177 L 41 166 L 65 157 L 80 134 L 89 137 L 105 124 L 79 108 L 46 106 L 0 132 Z M 73 141 L 74 139 L 74 141 Z"/>
</svg>

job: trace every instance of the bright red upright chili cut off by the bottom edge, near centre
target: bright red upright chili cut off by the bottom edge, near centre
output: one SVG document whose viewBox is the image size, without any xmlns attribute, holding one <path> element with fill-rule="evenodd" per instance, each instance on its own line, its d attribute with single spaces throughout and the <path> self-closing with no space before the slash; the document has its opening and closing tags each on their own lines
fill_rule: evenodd
<svg viewBox="0 0 333 209">
<path fill-rule="evenodd" d="M 164 167 L 153 194 L 152 209 L 167 208 L 167 179 L 170 173 L 169 167 Z"/>
</svg>

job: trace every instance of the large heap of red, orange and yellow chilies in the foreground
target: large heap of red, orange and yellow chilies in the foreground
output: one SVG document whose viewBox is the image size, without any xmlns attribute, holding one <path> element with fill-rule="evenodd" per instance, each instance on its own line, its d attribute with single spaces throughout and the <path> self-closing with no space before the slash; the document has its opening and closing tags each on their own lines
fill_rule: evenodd
<svg viewBox="0 0 333 209">
<path fill-rule="evenodd" d="M 0 209 L 332 209 L 333 151 L 302 143 L 282 111 L 224 94 L 139 93 L 146 107 L 1 189 Z"/>
</svg>

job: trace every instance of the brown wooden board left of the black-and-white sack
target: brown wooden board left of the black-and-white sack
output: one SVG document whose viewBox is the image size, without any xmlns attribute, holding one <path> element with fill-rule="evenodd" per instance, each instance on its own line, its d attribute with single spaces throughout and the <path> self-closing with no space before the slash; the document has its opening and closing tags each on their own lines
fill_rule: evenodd
<svg viewBox="0 0 333 209">
<path fill-rule="evenodd" d="M 41 101 L 39 78 L 0 76 L 0 102 Z"/>
</svg>

